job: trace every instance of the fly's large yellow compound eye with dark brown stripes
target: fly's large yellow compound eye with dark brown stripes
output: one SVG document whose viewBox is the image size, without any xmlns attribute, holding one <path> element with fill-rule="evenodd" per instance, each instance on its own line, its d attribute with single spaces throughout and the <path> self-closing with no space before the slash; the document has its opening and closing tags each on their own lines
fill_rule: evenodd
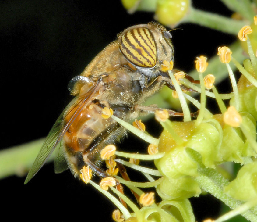
<svg viewBox="0 0 257 222">
<path fill-rule="evenodd" d="M 136 66 L 153 68 L 157 61 L 157 49 L 153 35 L 147 28 L 134 28 L 121 36 L 122 54 Z"/>
</svg>

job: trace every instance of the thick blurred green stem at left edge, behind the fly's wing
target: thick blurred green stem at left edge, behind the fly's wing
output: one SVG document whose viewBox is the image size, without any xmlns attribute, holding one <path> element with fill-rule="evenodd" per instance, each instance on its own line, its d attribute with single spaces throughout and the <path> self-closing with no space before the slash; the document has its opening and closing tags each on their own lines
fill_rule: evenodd
<svg viewBox="0 0 257 222">
<path fill-rule="evenodd" d="M 25 176 L 39 152 L 44 138 L 0 151 L 0 179 L 12 175 Z M 54 160 L 52 155 L 48 162 Z"/>
</svg>

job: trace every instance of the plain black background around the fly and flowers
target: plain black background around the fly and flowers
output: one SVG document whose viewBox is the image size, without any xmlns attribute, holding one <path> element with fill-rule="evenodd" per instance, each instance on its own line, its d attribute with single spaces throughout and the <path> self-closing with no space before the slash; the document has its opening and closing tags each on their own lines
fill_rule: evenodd
<svg viewBox="0 0 257 222">
<path fill-rule="evenodd" d="M 195 0 L 193 5 L 222 15 L 232 13 L 218 0 Z M 153 21 L 153 13 L 129 15 L 118 0 L 1 1 L 0 148 L 46 136 L 72 99 L 67 90 L 69 80 L 79 75 L 118 32 L 149 21 Z M 196 56 L 211 57 L 218 46 L 235 40 L 197 25 L 179 27 L 183 30 L 172 32 L 175 68 L 186 72 L 194 68 Z M 152 132 L 155 120 L 146 124 Z M 119 147 L 145 149 L 145 144 L 132 139 L 129 136 Z M 54 174 L 53 164 L 47 164 L 28 184 L 23 185 L 24 179 L 12 176 L 0 181 L 2 217 L 69 221 L 92 216 L 94 221 L 112 221 L 115 206 L 92 186 L 74 179 L 69 170 Z M 198 221 L 218 213 L 217 202 L 206 196 L 192 202 Z"/>
</svg>

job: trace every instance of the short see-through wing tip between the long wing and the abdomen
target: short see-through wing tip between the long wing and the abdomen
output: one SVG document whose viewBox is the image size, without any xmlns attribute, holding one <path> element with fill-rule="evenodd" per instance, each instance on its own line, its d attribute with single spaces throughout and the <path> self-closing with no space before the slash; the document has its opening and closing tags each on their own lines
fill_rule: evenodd
<svg viewBox="0 0 257 222">
<path fill-rule="evenodd" d="M 60 174 L 63 171 L 68 169 L 67 161 L 65 158 L 64 147 L 62 145 L 62 141 L 59 143 L 57 147 L 56 156 L 55 156 L 55 173 Z"/>
</svg>

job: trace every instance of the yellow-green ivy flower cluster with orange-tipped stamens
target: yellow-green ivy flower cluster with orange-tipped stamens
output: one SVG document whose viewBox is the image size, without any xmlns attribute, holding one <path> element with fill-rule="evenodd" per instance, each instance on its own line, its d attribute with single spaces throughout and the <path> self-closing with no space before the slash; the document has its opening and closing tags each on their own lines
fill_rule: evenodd
<svg viewBox="0 0 257 222">
<path fill-rule="evenodd" d="M 253 26 L 256 24 L 253 23 Z M 247 42 L 250 57 L 244 61 L 243 66 L 233 58 L 233 51 L 228 47 L 217 49 L 220 62 L 227 67 L 231 79 L 233 92 L 230 94 L 218 93 L 215 76 L 205 73 L 208 66 L 205 56 L 199 56 L 195 61 L 200 86 L 185 79 L 183 72 L 173 73 L 173 63 L 164 61 L 162 69 L 169 73 L 174 83 L 184 121 L 169 120 L 169 113 L 165 109 L 156 111 L 155 118 L 163 127 L 160 138 L 149 135 L 141 120 L 135 120 L 131 125 L 113 116 L 112 110 L 103 110 L 103 118 L 113 118 L 150 144 L 149 155 L 118 152 L 114 145 L 108 145 L 102 150 L 101 158 L 113 162 L 106 164 L 109 170 L 114 168 L 115 173 L 109 174 L 110 177 L 104 178 L 100 185 L 90 180 L 89 169 L 81 170 L 82 180 L 91 183 L 118 207 L 118 210 L 113 212 L 115 221 L 195 222 L 188 198 L 199 196 L 202 191 L 211 193 L 233 209 L 216 221 L 225 221 L 237 214 L 242 214 L 250 221 L 257 221 L 257 59 L 248 38 L 250 34 L 251 26 L 242 27 L 238 33 L 238 38 Z M 231 62 L 242 73 L 237 83 L 230 67 Z M 183 92 L 181 84 L 198 91 L 201 94 L 200 101 Z M 206 109 L 206 96 L 216 99 L 220 114 L 213 115 Z M 192 120 L 190 116 L 186 99 L 199 109 L 196 120 Z M 225 106 L 224 99 L 230 100 L 228 107 Z M 119 159 L 120 157 L 123 159 Z M 140 162 L 153 160 L 157 170 L 140 166 L 139 159 Z M 218 170 L 219 166 L 226 162 L 242 165 L 233 181 L 229 181 Z M 116 163 L 139 170 L 149 182 L 122 179 L 117 176 Z M 132 202 L 123 193 L 123 189 L 118 189 L 119 184 L 129 187 L 139 205 Z M 150 187 L 156 192 L 144 191 L 144 188 Z M 109 190 L 118 195 L 121 202 L 108 192 Z M 156 195 L 161 198 L 161 202 L 155 201 Z M 133 212 L 130 212 L 127 206 Z"/>
</svg>

